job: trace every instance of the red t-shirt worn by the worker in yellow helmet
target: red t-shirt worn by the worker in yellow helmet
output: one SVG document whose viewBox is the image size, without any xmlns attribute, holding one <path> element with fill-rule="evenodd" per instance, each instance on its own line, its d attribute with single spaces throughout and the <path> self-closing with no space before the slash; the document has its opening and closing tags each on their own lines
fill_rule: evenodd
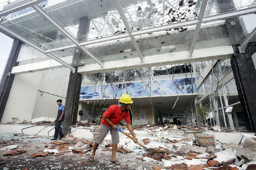
<svg viewBox="0 0 256 170">
<path fill-rule="evenodd" d="M 106 116 L 106 118 L 108 118 L 114 125 L 117 125 L 118 123 L 121 122 L 121 120 L 124 120 L 124 119 L 126 123 L 131 123 L 129 112 L 126 112 L 126 111 L 122 112 L 121 107 L 118 107 L 117 104 L 109 106 L 108 110 L 106 110 L 103 113 L 103 116 Z M 101 119 L 101 124 L 111 127 L 108 124 L 108 122 L 104 120 L 104 118 Z"/>
</svg>

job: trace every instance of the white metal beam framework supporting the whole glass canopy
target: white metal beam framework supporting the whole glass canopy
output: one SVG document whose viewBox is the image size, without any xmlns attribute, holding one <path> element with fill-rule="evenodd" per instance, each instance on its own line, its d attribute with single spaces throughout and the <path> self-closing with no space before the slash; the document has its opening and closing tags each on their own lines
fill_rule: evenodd
<svg viewBox="0 0 256 170">
<path fill-rule="evenodd" d="M 121 19 L 123 20 L 123 23 L 126 27 L 127 32 L 122 33 L 122 34 L 118 34 L 118 35 L 112 35 L 112 36 L 108 36 L 108 37 L 102 37 L 102 38 L 97 38 L 97 39 L 93 39 L 93 40 L 88 40 L 88 41 L 80 43 L 76 40 L 76 37 L 74 37 L 68 30 L 61 27 L 61 25 L 57 21 L 52 19 L 52 17 L 47 12 L 45 12 L 43 8 L 41 8 L 38 5 L 39 3 L 44 2 L 44 1 L 45 0 L 27 0 L 25 2 L 18 3 L 16 5 L 13 5 L 13 6 L 7 8 L 7 9 L 2 10 L 0 12 L 0 17 L 6 16 L 8 14 L 11 14 L 13 12 L 16 12 L 16 11 L 19 11 L 19 10 L 22 10 L 24 8 L 27 8 L 27 7 L 31 6 L 32 8 L 34 8 L 36 10 L 36 12 L 38 12 L 45 19 L 47 19 L 53 26 L 55 26 L 63 35 L 65 35 L 69 40 L 71 40 L 73 42 L 72 44 L 57 47 L 57 48 L 53 48 L 53 49 L 49 49 L 49 50 L 44 50 L 44 49 L 38 47 L 35 43 L 27 40 L 26 38 L 20 36 L 17 33 L 15 33 L 14 31 L 9 29 L 8 27 L 5 27 L 3 24 L 0 24 L 0 28 L 2 28 L 6 32 L 9 32 L 14 37 L 20 39 L 21 41 L 23 41 L 27 44 L 29 44 L 30 46 L 32 46 L 36 50 L 39 50 L 40 52 L 44 53 L 45 55 L 49 56 L 50 58 L 55 59 L 56 61 L 60 62 L 64 66 L 67 66 L 68 68 L 71 69 L 72 72 L 74 72 L 74 70 L 75 70 L 74 67 L 68 65 L 67 63 L 60 60 L 59 58 L 53 56 L 51 53 L 56 52 L 56 51 L 60 51 L 60 50 L 79 47 L 82 51 L 84 51 L 92 59 L 94 59 L 97 64 L 99 64 L 101 67 L 104 68 L 104 64 L 96 56 L 94 56 L 85 46 L 90 45 L 90 44 L 103 43 L 103 42 L 107 42 L 107 41 L 111 41 L 111 40 L 117 40 L 117 39 L 130 37 L 137 53 L 139 54 L 141 62 L 143 63 L 144 62 L 144 56 L 141 53 L 138 44 L 136 43 L 135 36 L 143 35 L 143 34 L 147 34 L 147 33 L 154 33 L 154 32 L 163 31 L 163 30 L 167 30 L 167 29 L 173 29 L 173 28 L 177 28 L 177 27 L 186 27 L 186 26 L 196 25 L 196 30 L 195 30 L 195 33 L 194 33 L 194 36 L 193 36 L 193 41 L 192 41 L 190 49 L 188 49 L 189 50 L 188 56 L 193 57 L 193 51 L 194 51 L 194 48 L 195 48 L 195 45 L 196 45 L 196 40 L 197 40 L 197 37 L 198 37 L 198 34 L 199 34 L 200 27 L 201 27 L 202 23 L 212 22 L 212 21 L 217 21 L 217 20 L 227 19 L 227 18 L 233 18 L 233 17 L 252 14 L 252 13 L 256 12 L 256 7 L 254 6 L 254 7 L 250 7 L 250 8 L 246 8 L 246 9 L 240 9 L 240 10 L 236 10 L 236 11 L 232 11 L 232 12 L 220 13 L 220 14 L 217 14 L 217 15 L 204 17 L 205 8 L 206 8 L 206 5 L 207 5 L 208 1 L 203 0 L 202 4 L 201 4 L 201 7 L 200 7 L 199 16 L 198 16 L 197 19 L 191 19 L 191 20 L 187 20 L 187 21 L 182 21 L 182 22 L 177 22 L 177 23 L 172 23 L 172 24 L 166 24 L 166 25 L 161 25 L 161 26 L 157 26 L 157 27 L 150 27 L 150 28 L 140 29 L 140 30 L 131 32 L 131 28 L 130 28 L 129 23 L 128 23 L 125 15 L 124 15 L 121 4 L 120 4 L 119 0 L 115 0 L 114 3 L 116 5 L 117 11 L 119 12 L 119 15 L 120 15 Z M 77 0 L 77 1 L 79 1 L 79 0 Z M 252 38 L 255 35 L 256 35 L 256 29 L 254 28 L 252 33 L 250 35 L 248 35 L 246 37 L 246 39 L 244 40 L 244 42 L 239 46 L 240 52 L 244 52 L 245 47 L 247 46 L 247 44 L 252 40 Z"/>
</svg>

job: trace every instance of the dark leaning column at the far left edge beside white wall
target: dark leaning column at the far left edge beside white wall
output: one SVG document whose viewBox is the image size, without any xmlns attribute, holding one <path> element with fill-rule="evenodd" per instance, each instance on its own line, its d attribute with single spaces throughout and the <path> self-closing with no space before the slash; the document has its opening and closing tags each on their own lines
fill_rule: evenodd
<svg viewBox="0 0 256 170">
<path fill-rule="evenodd" d="M 11 71 L 12 71 L 12 67 L 15 66 L 15 63 L 19 56 L 21 45 L 22 45 L 22 41 L 18 39 L 13 40 L 12 50 L 7 60 L 4 73 L 2 76 L 2 80 L 0 83 L 0 120 L 2 120 L 4 109 L 5 109 L 10 91 L 12 89 L 12 83 L 15 75 L 11 74 Z"/>
</svg>

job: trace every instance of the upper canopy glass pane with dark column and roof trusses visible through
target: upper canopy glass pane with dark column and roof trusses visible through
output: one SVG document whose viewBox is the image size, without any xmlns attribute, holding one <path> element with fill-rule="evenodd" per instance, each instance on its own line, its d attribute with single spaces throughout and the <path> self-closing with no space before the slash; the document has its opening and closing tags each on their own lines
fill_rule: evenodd
<svg viewBox="0 0 256 170">
<path fill-rule="evenodd" d="M 113 1 L 97 2 L 48 0 L 44 2 L 46 5 L 39 5 L 79 42 L 125 33 L 124 23 Z"/>
</svg>

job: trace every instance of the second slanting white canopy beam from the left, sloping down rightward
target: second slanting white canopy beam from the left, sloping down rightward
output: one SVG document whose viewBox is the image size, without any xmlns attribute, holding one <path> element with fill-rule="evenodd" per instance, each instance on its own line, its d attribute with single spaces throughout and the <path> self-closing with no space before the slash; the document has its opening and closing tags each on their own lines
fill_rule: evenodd
<svg viewBox="0 0 256 170">
<path fill-rule="evenodd" d="M 54 25 L 60 32 L 68 37 L 73 43 L 76 44 L 76 46 L 79 45 L 79 42 L 76 40 L 76 38 L 65 28 L 63 28 L 59 23 L 57 23 L 50 15 L 48 15 L 47 12 L 45 12 L 39 5 L 33 5 L 33 8 L 38 12 L 40 15 L 45 17 L 52 25 Z M 92 59 L 94 59 L 101 67 L 103 67 L 103 63 L 100 62 L 98 58 L 96 58 L 89 50 L 87 50 L 85 47 L 80 47 L 85 53 L 87 53 Z M 88 53 L 89 52 L 89 53 Z"/>
</svg>

